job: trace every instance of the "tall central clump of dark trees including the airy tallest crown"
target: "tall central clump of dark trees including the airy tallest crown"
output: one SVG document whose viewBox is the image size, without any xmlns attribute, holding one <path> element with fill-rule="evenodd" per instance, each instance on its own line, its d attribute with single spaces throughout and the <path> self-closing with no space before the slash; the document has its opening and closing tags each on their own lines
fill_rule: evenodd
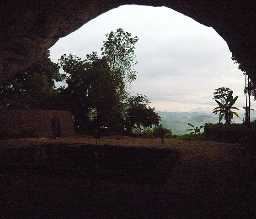
<svg viewBox="0 0 256 219">
<path fill-rule="evenodd" d="M 88 123 L 90 118 L 96 126 L 116 130 L 122 129 L 127 86 L 136 78 L 134 44 L 138 37 L 121 28 L 106 36 L 101 57 L 92 52 L 85 60 L 71 54 L 60 58 L 68 84 L 61 93 L 69 95 L 77 125 Z"/>
</svg>

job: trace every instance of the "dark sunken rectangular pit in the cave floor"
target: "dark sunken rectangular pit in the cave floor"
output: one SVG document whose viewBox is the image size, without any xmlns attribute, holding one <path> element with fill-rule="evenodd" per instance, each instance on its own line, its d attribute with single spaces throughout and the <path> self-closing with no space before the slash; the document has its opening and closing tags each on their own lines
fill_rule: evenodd
<svg viewBox="0 0 256 219">
<path fill-rule="evenodd" d="M 100 181 L 165 183 L 181 152 L 177 149 L 111 145 L 48 144 L 2 151 L 1 168 L 35 174 L 90 177 L 91 150 L 98 155 Z"/>
</svg>

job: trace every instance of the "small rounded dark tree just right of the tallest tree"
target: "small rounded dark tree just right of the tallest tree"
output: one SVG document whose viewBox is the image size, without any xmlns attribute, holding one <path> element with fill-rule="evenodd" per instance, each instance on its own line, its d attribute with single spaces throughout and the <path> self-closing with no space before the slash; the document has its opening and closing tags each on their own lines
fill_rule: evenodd
<svg viewBox="0 0 256 219">
<path fill-rule="evenodd" d="M 160 116 L 155 113 L 155 108 L 148 106 L 149 103 L 146 96 L 142 96 L 141 94 L 128 98 L 128 109 L 125 116 L 125 126 L 128 133 L 134 127 L 159 125 Z"/>
</svg>

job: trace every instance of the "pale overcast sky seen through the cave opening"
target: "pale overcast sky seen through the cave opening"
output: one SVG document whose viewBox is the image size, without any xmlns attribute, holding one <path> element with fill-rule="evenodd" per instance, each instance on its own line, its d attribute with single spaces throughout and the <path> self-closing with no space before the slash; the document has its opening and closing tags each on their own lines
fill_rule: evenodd
<svg viewBox="0 0 256 219">
<path fill-rule="evenodd" d="M 211 113 L 216 104 L 205 103 L 213 102 L 214 89 L 229 87 L 241 96 L 235 105 L 244 114 L 244 76 L 231 60 L 227 43 L 213 28 L 166 7 L 125 5 L 110 10 L 61 38 L 50 49 L 51 59 L 57 62 L 64 53 L 81 58 L 92 51 L 100 54 L 106 33 L 120 27 L 139 37 L 139 73 L 131 94 L 146 95 L 158 111 Z"/>
</svg>

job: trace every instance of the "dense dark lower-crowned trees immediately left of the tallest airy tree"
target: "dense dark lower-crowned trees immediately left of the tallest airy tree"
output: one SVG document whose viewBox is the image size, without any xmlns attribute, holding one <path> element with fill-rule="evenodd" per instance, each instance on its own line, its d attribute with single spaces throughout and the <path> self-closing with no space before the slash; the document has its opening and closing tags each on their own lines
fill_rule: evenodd
<svg viewBox="0 0 256 219">
<path fill-rule="evenodd" d="M 107 58 L 99 57 L 96 52 L 87 55 L 85 60 L 64 54 L 59 63 L 67 74 L 68 84 L 60 96 L 68 97 L 66 104 L 74 115 L 75 125 L 85 127 L 92 121 L 91 128 L 120 128 L 121 103 L 116 97 L 116 84 Z"/>
</svg>

